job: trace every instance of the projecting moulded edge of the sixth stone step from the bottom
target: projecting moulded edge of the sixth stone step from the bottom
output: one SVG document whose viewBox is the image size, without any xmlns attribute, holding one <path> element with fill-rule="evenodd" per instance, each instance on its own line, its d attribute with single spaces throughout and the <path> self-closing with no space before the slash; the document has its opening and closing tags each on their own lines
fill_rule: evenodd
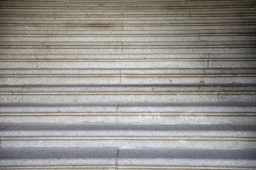
<svg viewBox="0 0 256 170">
<path fill-rule="evenodd" d="M 236 54 L 2 54 L 0 55 L 0 61 L 8 61 L 8 60 L 37 60 L 37 61 L 46 61 L 46 60 L 81 60 L 81 61 L 93 61 L 93 60 L 101 60 L 101 61 L 122 61 L 122 60 L 158 60 L 158 59 L 166 59 L 166 60 L 194 60 L 194 59 L 209 59 L 210 60 L 223 60 L 223 61 L 231 61 L 231 60 L 247 60 L 247 59 L 255 59 L 255 54 L 244 54 L 244 53 L 236 53 Z M 113 68 L 113 67 L 112 67 Z"/>
</svg>

